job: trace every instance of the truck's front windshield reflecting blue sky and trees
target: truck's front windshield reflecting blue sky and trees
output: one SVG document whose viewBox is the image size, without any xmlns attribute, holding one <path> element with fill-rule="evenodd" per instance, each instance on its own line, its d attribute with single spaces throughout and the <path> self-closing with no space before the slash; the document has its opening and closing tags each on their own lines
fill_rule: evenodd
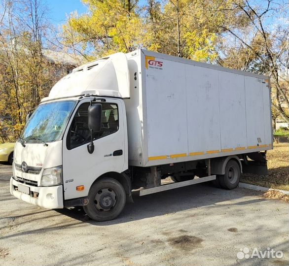
<svg viewBox="0 0 289 266">
<path fill-rule="evenodd" d="M 74 100 L 40 104 L 25 126 L 21 138 L 30 142 L 59 140 L 74 105 Z"/>
</svg>

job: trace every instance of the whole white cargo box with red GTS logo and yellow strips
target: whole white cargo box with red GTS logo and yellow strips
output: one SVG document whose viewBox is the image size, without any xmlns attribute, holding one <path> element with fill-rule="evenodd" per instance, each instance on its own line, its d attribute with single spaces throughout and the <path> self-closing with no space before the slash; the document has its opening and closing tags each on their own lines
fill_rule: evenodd
<svg viewBox="0 0 289 266">
<path fill-rule="evenodd" d="M 268 77 L 146 50 L 127 59 L 129 165 L 273 148 Z"/>
</svg>

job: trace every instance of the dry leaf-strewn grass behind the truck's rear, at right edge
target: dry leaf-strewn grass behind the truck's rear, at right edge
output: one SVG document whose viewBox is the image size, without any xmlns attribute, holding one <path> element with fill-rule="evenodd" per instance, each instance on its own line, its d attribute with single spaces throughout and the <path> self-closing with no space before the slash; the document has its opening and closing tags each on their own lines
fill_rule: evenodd
<svg viewBox="0 0 289 266">
<path fill-rule="evenodd" d="M 242 174 L 241 182 L 257 186 L 289 190 L 289 143 L 275 143 L 267 151 L 268 175 Z"/>
</svg>

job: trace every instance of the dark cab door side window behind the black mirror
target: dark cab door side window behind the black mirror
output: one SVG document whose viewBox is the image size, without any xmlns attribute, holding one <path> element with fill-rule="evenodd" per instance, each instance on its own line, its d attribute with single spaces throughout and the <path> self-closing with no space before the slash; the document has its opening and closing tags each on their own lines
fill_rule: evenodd
<svg viewBox="0 0 289 266">
<path fill-rule="evenodd" d="M 102 102 L 101 130 L 93 133 L 93 139 L 98 139 L 118 131 L 118 107 L 115 103 Z M 67 148 L 69 150 L 90 142 L 90 131 L 88 129 L 87 110 L 89 102 L 82 103 L 72 120 L 67 137 Z"/>
</svg>

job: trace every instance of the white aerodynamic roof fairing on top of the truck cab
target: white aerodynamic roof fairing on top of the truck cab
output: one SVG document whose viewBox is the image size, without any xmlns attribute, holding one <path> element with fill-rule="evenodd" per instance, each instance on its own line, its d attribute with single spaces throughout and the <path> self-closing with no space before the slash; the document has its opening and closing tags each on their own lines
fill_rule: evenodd
<svg viewBox="0 0 289 266">
<path fill-rule="evenodd" d="M 45 100 L 84 94 L 130 98 L 126 55 L 116 53 L 74 68 L 53 86 Z"/>
</svg>

